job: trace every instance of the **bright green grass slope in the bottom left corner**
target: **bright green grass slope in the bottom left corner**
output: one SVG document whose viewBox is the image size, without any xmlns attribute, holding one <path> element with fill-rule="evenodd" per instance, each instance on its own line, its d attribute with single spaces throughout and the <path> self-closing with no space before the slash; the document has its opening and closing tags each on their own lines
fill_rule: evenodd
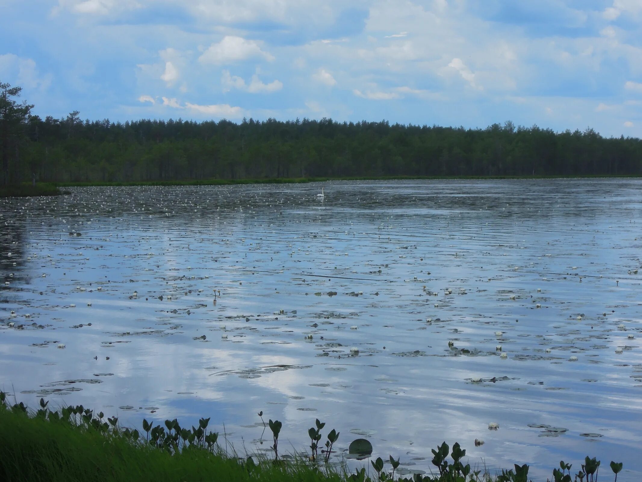
<svg viewBox="0 0 642 482">
<path fill-rule="evenodd" d="M 302 463 L 263 463 L 250 471 L 221 453 L 199 449 L 169 454 L 124 437 L 2 409 L 0 446 L 0 480 L 6 482 L 342 480 Z"/>
</svg>

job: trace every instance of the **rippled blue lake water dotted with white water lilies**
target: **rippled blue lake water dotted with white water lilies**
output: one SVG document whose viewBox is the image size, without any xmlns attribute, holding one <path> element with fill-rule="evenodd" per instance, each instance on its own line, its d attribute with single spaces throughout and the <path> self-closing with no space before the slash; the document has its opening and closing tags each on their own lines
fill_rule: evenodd
<svg viewBox="0 0 642 482">
<path fill-rule="evenodd" d="M 74 188 L 0 215 L 0 388 L 32 407 L 642 474 L 642 181 Z"/>
</svg>

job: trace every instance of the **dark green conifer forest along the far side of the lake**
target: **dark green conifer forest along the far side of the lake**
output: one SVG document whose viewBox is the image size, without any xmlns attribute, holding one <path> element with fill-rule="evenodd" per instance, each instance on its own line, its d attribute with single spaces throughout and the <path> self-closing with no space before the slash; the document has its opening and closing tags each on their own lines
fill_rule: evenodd
<svg viewBox="0 0 642 482">
<path fill-rule="evenodd" d="M 642 175 L 642 141 L 507 121 L 485 129 L 331 119 L 82 120 L 33 115 L 0 82 L 2 183 L 279 177 Z M 429 115 L 426 115 L 429 120 Z"/>
</svg>

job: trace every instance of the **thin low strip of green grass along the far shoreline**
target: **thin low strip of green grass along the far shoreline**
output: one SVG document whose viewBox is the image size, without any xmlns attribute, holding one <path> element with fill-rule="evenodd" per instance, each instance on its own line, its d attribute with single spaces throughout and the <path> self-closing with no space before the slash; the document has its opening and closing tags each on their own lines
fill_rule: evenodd
<svg viewBox="0 0 642 482">
<path fill-rule="evenodd" d="M 117 181 L 117 182 L 82 182 L 56 183 L 56 186 L 225 186 L 230 184 L 304 184 L 322 183 L 325 181 L 399 181 L 421 179 L 600 179 L 600 178 L 636 178 L 636 175 L 497 175 L 497 176 L 406 176 L 390 175 L 379 177 L 261 177 L 256 179 L 184 179 L 176 181 Z"/>
</svg>

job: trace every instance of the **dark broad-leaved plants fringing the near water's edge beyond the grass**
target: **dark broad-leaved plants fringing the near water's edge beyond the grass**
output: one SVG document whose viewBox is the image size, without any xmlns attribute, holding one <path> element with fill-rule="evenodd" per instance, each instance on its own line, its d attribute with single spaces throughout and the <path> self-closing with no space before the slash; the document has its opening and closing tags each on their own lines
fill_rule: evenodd
<svg viewBox="0 0 642 482">
<path fill-rule="evenodd" d="M 9 404 L 6 399 L 6 393 L 2 391 L 0 391 L 0 413 L 2 413 L 4 417 L 10 417 L 9 419 L 3 419 L 6 421 L 33 420 L 33 423 L 35 424 L 51 424 L 51 427 L 65 427 L 65 431 L 70 429 L 74 433 L 78 433 L 83 437 L 83 440 L 85 440 L 85 437 L 87 437 L 87 440 L 93 440 L 95 437 L 99 437 L 101 440 L 104 438 L 106 439 L 104 444 L 98 443 L 98 445 L 96 445 L 96 442 L 94 442 L 94 445 L 96 446 L 103 445 L 103 449 L 104 447 L 121 443 L 125 444 L 125 447 L 129 447 L 130 451 L 134 454 L 136 451 L 139 451 L 140 454 L 146 454 L 144 456 L 148 457 L 151 453 L 165 453 L 165 456 L 169 454 L 171 460 L 182 460 L 184 457 L 188 457 L 185 460 L 191 460 L 190 463 L 194 463 L 195 460 L 202 460 L 204 457 L 214 457 L 216 460 L 225 461 L 225 463 L 231 464 L 230 467 L 237 467 L 237 469 L 240 467 L 243 471 L 242 473 L 245 474 L 243 478 L 241 478 L 243 480 L 256 480 L 260 478 L 259 476 L 264 474 L 265 471 L 277 470 L 278 474 L 281 474 L 281 476 L 284 477 L 287 476 L 288 480 L 297 480 L 299 482 L 308 479 L 310 481 L 320 480 L 328 482 L 531 482 L 531 479 L 528 479 L 529 466 L 526 464 L 516 464 L 514 465 L 514 469 L 502 470 L 501 473 L 494 476 L 487 472 L 482 474 L 480 470 L 471 471 L 471 466 L 469 464 L 464 465 L 463 460 L 465 458 L 466 451 L 460 447 L 459 443 L 455 443 L 453 445 L 452 451 L 446 442 L 438 445 L 436 449 L 432 449 L 433 459 L 431 462 L 435 466 L 438 472 L 437 474 L 414 474 L 410 478 L 399 478 L 397 472 L 401 465 L 401 461 L 398 457 L 395 459 L 390 455 L 386 462 L 389 462 L 390 467 L 392 467 L 390 472 L 386 472 L 386 470 L 384 470 L 385 462 L 380 457 L 374 461 L 370 461 L 372 469 L 374 469 L 375 472 L 374 479 L 371 479 L 365 467 L 361 467 L 356 470 L 356 472 L 349 474 L 345 472 L 345 465 L 342 467 L 342 471 L 338 472 L 328 465 L 325 466 L 325 470 L 319 470 L 317 465 L 309 465 L 308 461 L 297 458 L 291 458 L 288 460 L 280 459 L 278 446 L 282 423 L 279 422 L 279 420 L 270 420 L 268 423 L 273 437 L 273 462 L 278 461 L 278 463 L 268 463 L 267 460 L 262 458 L 255 462 L 252 456 L 239 458 L 236 453 L 230 456 L 227 451 L 223 451 L 223 449 L 218 446 L 218 433 L 208 431 L 210 418 L 200 418 L 198 420 L 198 427 L 192 426 L 191 429 L 181 427 L 176 418 L 173 420 L 165 420 L 162 425 L 154 425 L 154 422 L 148 422 L 144 419 L 144 436 L 141 436 L 141 433 L 136 429 L 132 430 L 126 427 L 121 427 L 116 416 L 107 417 L 107 421 L 105 422 L 103 421 L 105 415 L 102 412 L 94 415 L 94 412 L 91 409 L 87 409 L 82 405 L 63 407 L 60 411 L 51 411 L 49 409 L 49 402 L 44 400 L 44 398 L 40 398 L 39 408 L 33 411 L 28 409 L 28 407 L 22 402 L 15 403 L 13 405 Z M 263 414 L 259 414 L 259 416 L 261 415 Z M 21 424 L 22 422 L 19 422 L 17 425 L 14 425 L 21 427 Z M 315 427 L 311 427 L 308 431 L 308 435 L 311 440 L 311 460 L 313 461 L 318 460 L 318 443 L 322 438 L 321 430 L 324 427 L 325 423 L 320 422 L 320 420 L 317 419 L 315 421 Z M 2 425 L 0 425 L 0 431 L 1 430 Z M 65 433 L 71 434 L 71 432 Z M 5 437 L 8 436 L 6 433 L 0 434 Z M 68 436 L 65 437 L 69 438 Z M 338 438 L 339 433 L 334 429 L 327 434 L 325 450 L 322 451 L 324 453 L 324 462 L 326 464 L 329 462 L 332 454 L 335 453 L 333 446 Z M 34 443 L 35 442 L 38 441 L 34 440 Z M 359 442 L 359 440 L 355 442 Z M 13 445 L 13 443 L 11 445 Z M 33 443 L 22 445 L 23 447 L 27 447 L 22 450 L 28 452 L 28 447 L 30 445 L 33 445 Z M 372 451 L 372 445 L 368 445 L 370 454 Z M 9 445 L 7 447 L 11 449 Z M 368 457 L 369 454 L 367 455 Z M 34 457 L 38 458 L 40 454 L 39 452 L 34 452 L 33 454 L 25 454 L 24 456 L 30 458 L 30 461 L 22 464 L 24 467 L 13 465 L 12 470 L 15 471 L 17 470 L 16 467 L 18 467 L 18 470 L 28 471 L 31 467 L 31 460 L 34 460 Z M 196 458 L 189 458 L 191 456 Z M 8 458 L 3 454 L 3 458 L 0 458 L 0 480 L 10 480 L 10 478 L 3 478 L 4 468 L 9 467 L 8 461 L 15 463 L 12 458 Z M 50 461 L 47 463 L 50 463 Z M 78 461 L 77 463 L 81 462 Z M 570 463 L 560 461 L 559 469 L 556 468 L 553 470 L 553 479 L 551 482 L 597 482 L 600 461 L 595 457 L 586 457 L 584 463 L 581 465 L 580 471 L 575 474 L 575 476 L 571 476 L 571 467 L 572 465 Z M 623 463 L 611 461 L 611 470 L 615 475 L 614 482 L 617 482 L 618 474 L 621 472 L 622 468 Z M 67 470 L 73 469 L 74 467 L 67 467 Z M 45 469 L 45 473 L 46 470 L 47 469 Z M 297 472 L 297 470 L 304 470 L 307 475 L 304 477 L 302 476 L 302 472 Z M 270 480 L 285 480 L 281 476 L 277 479 Z M 397 478 L 395 478 L 395 476 Z M 44 480 L 43 478 L 40 479 Z M 60 477 L 57 479 L 60 479 Z M 172 475 L 168 480 L 169 479 L 184 480 L 184 476 L 180 476 L 177 472 L 175 477 Z M 107 478 L 105 480 L 110 479 Z M 158 482 L 158 479 L 154 480 L 155 482 Z"/>
</svg>

